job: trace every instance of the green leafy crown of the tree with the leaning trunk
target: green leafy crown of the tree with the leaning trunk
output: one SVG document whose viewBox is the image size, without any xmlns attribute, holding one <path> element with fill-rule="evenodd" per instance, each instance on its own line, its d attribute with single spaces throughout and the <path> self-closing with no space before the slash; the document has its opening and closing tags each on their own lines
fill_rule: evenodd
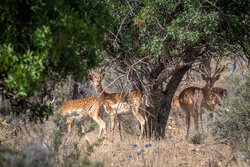
<svg viewBox="0 0 250 167">
<path fill-rule="evenodd" d="M 118 59 L 130 57 L 128 54 L 131 57 L 162 56 L 161 42 L 165 36 L 165 45 L 173 57 L 187 48 L 191 51 L 190 48 L 204 44 L 209 44 L 210 52 L 225 51 L 229 49 L 228 43 L 239 46 L 243 42 L 249 48 L 246 42 L 248 5 L 243 0 L 108 2 L 117 24 L 114 33 L 119 33 L 119 40 L 114 40 L 112 35 L 109 41 L 113 41 L 110 44 L 113 48 L 106 49 L 119 54 Z M 234 7 L 230 8 L 231 5 Z"/>
</svg>

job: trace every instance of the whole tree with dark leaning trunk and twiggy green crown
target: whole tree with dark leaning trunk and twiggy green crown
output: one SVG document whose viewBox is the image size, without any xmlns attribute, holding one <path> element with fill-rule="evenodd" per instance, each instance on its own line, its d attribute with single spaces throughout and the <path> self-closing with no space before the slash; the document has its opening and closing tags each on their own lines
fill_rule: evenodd
<svg viewBox="0 0 250 167">
<path fill-rule="evenodd" d="M 241 50 L 249 58 L 246 1 L 108 2 L 116 28 L 105 40 L 107 59 L 148 92 L 157 138 L 165 136 L 172 97 L 194 62 Z"/>
</svg>

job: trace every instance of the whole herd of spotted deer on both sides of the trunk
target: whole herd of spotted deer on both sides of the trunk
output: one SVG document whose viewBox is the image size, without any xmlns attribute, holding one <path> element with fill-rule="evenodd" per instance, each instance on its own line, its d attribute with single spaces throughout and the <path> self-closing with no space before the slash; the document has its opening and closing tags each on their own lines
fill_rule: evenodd
<svg viewBox="0 0 250 167">
<path fill-rule="evenodd" d="M 186 138 L 189 135 L 190 119 L 194 119 L 195 129 L 199 128 L 199 118 L 202 125 L 202 114 L 205 110 L 214 111 L 217 105 L 221 105 L 221 99 L 226 97 L 228 92 L 226 89 L 214 87 L 214 84 L 220 78 L 220 73 L 224 70 L 223 68 L 216 68 L 214 74 L 211 74 L 211 68 L 209 66 L 203 66 L 200 68 L 202 72 L 202 79 L 206 82 L 203 88 L 199 87 L 188 87 L 185 88 L 177 97 L 172 99 L 172 107 L 177 107 L 179 110 L 185 113 L 185 122 L 187 127 Z M 82 129 L 83 122 L 86 120 L 93 119 L 100 126 L 98 138 L 101 137 L 102 133 L 107 134 L 107 125 L 102 118 L 103 110 L 110 117 L 111 123 L 111 138 L 113 141 L 114 130 L 115 130 L 115 118 L 117 118 L 118 131 L 120 138 L 122 139 L 121 133 L 121 116 L 122 115 L 134 115 L 140 123 L 140 136 L 143 137 L 145 126 L 148 126 L 148 118 L 146 116 L 146 96 L 145 92 L 131 91 L 130 93 L 108 93 L 106 92 L 101 84 L 103 76 L 95 76 L 89 74 L 88 78 L 93 82 L 93 85 L 99 94 L 98 96 L 88 97 L 79 100 L 70 100 L 66 102 L 57 113 L 66 117 L 68 124 L 68 131 L 72 130 L 72 125 L 77 120 L 81 120 Z M 148 129 L 149 127 L 147 127 Z"/>
</svg>

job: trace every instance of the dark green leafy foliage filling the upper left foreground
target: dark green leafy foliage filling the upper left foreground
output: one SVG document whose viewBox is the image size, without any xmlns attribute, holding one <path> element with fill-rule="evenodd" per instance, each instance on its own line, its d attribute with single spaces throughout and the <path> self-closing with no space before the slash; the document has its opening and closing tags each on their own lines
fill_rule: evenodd
<svg viewBox="0 0 250 167">
<path fill-rule="evenodd" d="M 97 65 L 112 21 L 99 0 L 3 0 L 0 11 L 0 94 L 22 108 L 32 108 L 28 99 L 46 80 L 83 77 Z"/>
</svg>

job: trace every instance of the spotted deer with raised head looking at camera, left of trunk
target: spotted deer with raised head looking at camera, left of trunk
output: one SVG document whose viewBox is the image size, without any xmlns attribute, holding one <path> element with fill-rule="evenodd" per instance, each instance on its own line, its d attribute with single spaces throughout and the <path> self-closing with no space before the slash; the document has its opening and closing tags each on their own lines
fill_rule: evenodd
<svg viewBox="0 0 250 167">
<path fill-rule="evenodd" d="M 89 79 L 93 81 L 94 86 L 97 89 L 97 92 L 100 94 L 100 99 L 103 103 L 105 111 L 110 116 L 111 122 L 111 141 L 114 137 L 114 128 L 115 128 L 115 117 L 118 118 L 118 130 L 121 135 L 121 115 L 134 115 L 136 119 L 140 122 L 141 125 L 141 137 L 143 136 L 144 127 L 147 124 L 147 118 L 145 113 L 145 103 L 144 97 L 145 93 L 140 91 L 132 91 L 130 94 L 125 93 L 107 93 L 103 90 L 101 84 L 100 76 L 89 75 Z"/>
</svg>

